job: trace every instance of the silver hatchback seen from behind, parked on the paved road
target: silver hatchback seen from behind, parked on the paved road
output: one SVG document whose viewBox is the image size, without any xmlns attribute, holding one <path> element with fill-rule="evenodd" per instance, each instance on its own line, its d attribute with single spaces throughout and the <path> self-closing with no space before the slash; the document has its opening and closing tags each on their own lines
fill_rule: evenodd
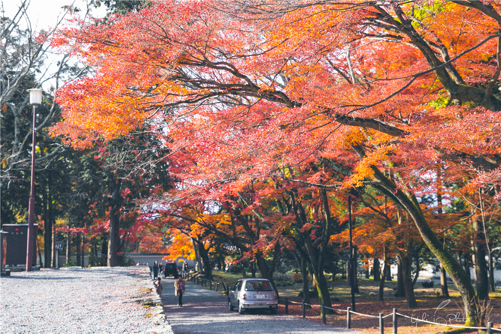
<svg viewBox="0 0 501 334">
<path fill-rule="evenodd" d="M 240 279 L 228 294 L 228 309 L 232 311 L 235 307 L 240 314 L 247 309 L 268 309 L 271 314 L 277 314 L 277 292 L 268 279 Z"/>
</svg>

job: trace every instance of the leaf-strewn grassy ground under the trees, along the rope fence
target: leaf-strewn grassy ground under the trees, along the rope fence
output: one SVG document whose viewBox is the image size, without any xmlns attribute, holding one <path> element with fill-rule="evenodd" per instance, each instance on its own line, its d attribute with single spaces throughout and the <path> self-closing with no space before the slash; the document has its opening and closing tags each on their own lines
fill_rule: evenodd
<svg viewBox="0 0 501 334">
<path fill-rule="evenodd" d="M 226 273 L 222 271 L 213 271 L 214 281 L 224 281 L 229 286 L 233 286 L 235 282 L 241 278 L 241 275 Z M 292 275 L 292 273 L 291 273 Z M 291 278 L 291 281 L 292 278 Z M 329 291 L 332 298 L 332 307 L 338 309 L 346 309 L 351 306 L 351 291 L 350 287 L 346 284 L 346 280 L 330 280 Z M 280 298 L 289 298 L 290 301 L 296 301 L 298 303 L 302 302 L 302 298 L 298 296 L 299 292 L 302 291 L 302 283 L 295 283 L 288 286 L 280 286 L 278 284 L 278 289 L 280 293 Z M 378 291 L 379 282 L 374 282 L 372 279 L 365 279 L 358 277 L 358 285 L 360 293 L 355 295 L 356 301 L 356 311 L 359 313 L 378 315 L 380 312 L 384 315 L 390 314 L 393 308 L 397 308 L 399 313 L 407 314 L 409 316 L 414 316 L 415 318 L 424 318 L 428 321 L 434 322 L 445 322 L 461 325 L 461 301 L 459 299 L 459 293 L 455 289 L 455 286 L 449 282 L 449 298 L 444 298 L 440 296 L 440 285 L 433 288 L 422 288 L 420 282 L 416 282 L 416 288 L 414 293 L 416 294 L 416 300 L 418 307 L 408 308 L 406 305 L 405 298 L 395 297 L 395 290 L 397 282 L 395 280 L 391 282 L 385 282 L 384 289 L 384 301 L 378 301 Z M 493 323 L 494 328 L 501 328 L 501 290 L 496 289 L 495 293 L 490 293 L 490 301 L 487 304 L 487 320 Z M 443 308 L 437 309 L 437 307 L 445 301 L 445 299 L 450 299 L 450 302 Z M 322 321 L 320 316 L 319 301 L 317 298 L 312 298 L 311 309 L 306 310 L 306 316 L 315 321 Z M 279 313 L 284 313 L 285 307 L 283 304 L 279 307 Z M 336 327 L 346 327 L 346 312 L 338 312 L 339 314 L 328 314 L 327 315 L 327 325 L 332 325 Z M 302 315 L 301 304 L 289 304 L 289 314 L 294 314 L 297 316 Z M 385 333 L 391 333 L 392 331 L 392 320 L 391 316 L 384 319 L 385 321 Z M 379 334 L 379 320 L 377 318 L 365 317 L 357 314 L 352 314 L 352 328 L 363 331 L 370 334 Z M 452 327 L 437 326 L 424 324 L 422 322 L 412 321 L 407 318 L 398 318 L 398 333 L 402 334 L 434 334 L 443 332 L 446 329 L 453 329 Z M 496 333 L 498 331 L 493 331 Z M 499 332 L 501 333 L 501 332 Z"/>
</svg>

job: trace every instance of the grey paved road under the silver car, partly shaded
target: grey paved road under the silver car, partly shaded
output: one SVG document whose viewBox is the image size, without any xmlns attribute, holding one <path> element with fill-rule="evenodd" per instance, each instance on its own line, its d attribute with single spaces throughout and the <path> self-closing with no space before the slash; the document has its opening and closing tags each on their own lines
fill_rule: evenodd
<svg viewBox="0 0 501 334">
<path fill-rule="evenodd" d="M 164 310 L 174 334 L 362 334 L 359 331 L 334 328 L 300 316 L 269 312 L 253 312 L 240 315 L 230 312 L 227 297 L 214 290 L 204 289 L 194 283 L 186 283 L 183 306 L 177 306 L 174 296 L 174 279 L 162 280 Z"/>
</svg>

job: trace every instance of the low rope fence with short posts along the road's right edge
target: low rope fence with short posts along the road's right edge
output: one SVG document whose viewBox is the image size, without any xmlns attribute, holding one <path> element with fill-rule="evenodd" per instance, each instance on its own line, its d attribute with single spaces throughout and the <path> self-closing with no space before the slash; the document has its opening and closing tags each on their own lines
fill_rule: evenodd
<svg viewBox="0 0 501 334">
<path fill-rule="evenodd" d="M 213 281 L 210 279 L 205 279 L 204 277 L 195 276 L 193 274 L 190 275 L 189 273 L 186 273 L 185 275 L 183 274 L 183 276 L 185 276 L 185 278 L 187 280 L 190 280 L 191 282 L 196 283 L 196 284 L 200 284 L 203 287 L 207 287 L 207 284 L 208 284 L 209 289 L 212 289 L 212 285 L 214 284 L 216 291 L 218 291 L 219 285 L 222 285 L 222 291 L 224 291 L 224 293 L 226 295 L 229 294 L 229 285 L 224 283 L 223 281 L 217 282 L 217 281 Z M 322 315 L 322 322 L 323 323 L 327 323 L 326 309 L 330 309 L 330 310 L 338 311 L 338 312 L 346 312 L 346 328 L 348 328 L 348 329 L 351 328 L 351 314 L 357 314 L 360 316 L 376 318 L 376 319 L 379 319 L 380 334 L 384 334 L 384 318 L 387 318 L 390 316 L 392 317 L 392 327 L 393 327 L 392 334 L 398 334 L 398 317 L 399 316 L 403 317 L 403 318 L 411 319 L 411 322 L 413 322 L 413 323 L 415 322 L 416 324 L 419 321 L 419 322 L 424 322 L 424 323 L 429 323 L 429 324 L 439 325 L 439 326 L 446 326 L 446 327 L 480 329 L 480 330 L 485 330 L 487 334 L 494 334 L 494 331 L 501 333 L 501 328 L 493 328 L 492 322 L 490 322 L 490 321 L 487 322 L 487 327 L 471 327 L 471 326 L 451 324 L 450 321 L 452 321 L 452 320 L 449 320 L 449 323 L 447 323 L 447 321 L 446 321 L 446 323 L 440 323 L 440 322 L 428 321 L 425 319 L 419 319 L 419 318 L 414 317 L 414 316 L 409 316 L 406 314 L 399 313 L 399 312 L 397 312 L 396 308 L 393 309 L 392 313 L 389 313 L 386 315 L 383 315 L 383 313 L 379 313 L 379 315 L 371 315 L 371 314 L 364 314 L 364 313 L 352 311 L 351 307 L 347 307 L 346 309 L 339 309 L 339 308 L 325 306 L 324 303 L 322 303 L 321 305 L 312 305 L 312 304 L 308 304 L 304 300 L 302 302 L 298 302 L 298 301 L 294 301 L 294 300 L 289 300 L 289 298 L 285 298 L 285 299 L 279 299 L 279 303 L 280 302 L 284 302 L 286 314 L 289 314 L 289 304 L 301 305 L 301 308 L 303 311 L 303 317 L 306 317 L 306 306 L 310 306 L 312 308 L 319 307 L 320 314 Z"/>
</svg>

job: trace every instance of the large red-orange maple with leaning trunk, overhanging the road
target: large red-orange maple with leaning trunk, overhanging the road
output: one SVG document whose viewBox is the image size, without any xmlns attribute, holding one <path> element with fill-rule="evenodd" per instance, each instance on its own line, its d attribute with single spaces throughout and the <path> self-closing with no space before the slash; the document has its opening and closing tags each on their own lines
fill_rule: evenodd
<svg viewBox="0 0 501 334">
<path fill-rule="evenodd" d="M 479 324 L 469 275 L 419 198 L 441 192 L 437 164 L 443 179 L 480 171 L 496 182 L 499 24 L 499 4 L 482 1 L 157 2 L 74 21 L 53 45 L 97 72 L 58 91 L 65 119 L 53 131 L 85 147 L 165 128 L 180 197 L 238 196 L 329 164 L 335 178 L 300 180 L 317 187 L 322 212 L 326 189 L 387 196 L 454 281 L 466 323 Z"/>
</svg>

